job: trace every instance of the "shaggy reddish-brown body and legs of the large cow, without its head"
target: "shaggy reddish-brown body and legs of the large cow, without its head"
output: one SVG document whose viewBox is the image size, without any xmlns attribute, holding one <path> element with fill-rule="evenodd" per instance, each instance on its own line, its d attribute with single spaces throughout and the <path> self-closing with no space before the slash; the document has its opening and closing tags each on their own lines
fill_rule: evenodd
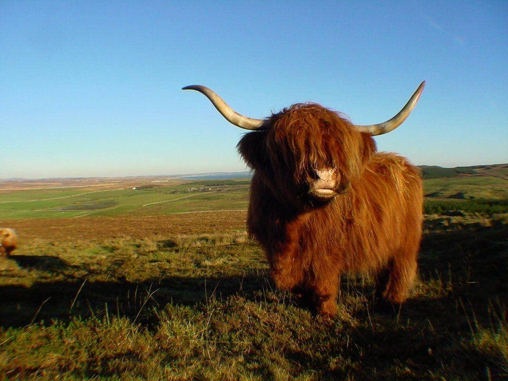
<svg viewBox="0 0 508 381">
<path fill-rule="evenodd" d="M 263 246 L 278 288 L 311 296 L 321 313 L 333 315 L 340 274 L 369 273 L 379 275 L 377 288 L 387 300 L 406 299 L 421 237 L 418 168 L 403 157 L 376 153 L 350 190 L 293 215 L 278 209 L 270 193 L 255 174 L 247 228 Z"/>
</svg>

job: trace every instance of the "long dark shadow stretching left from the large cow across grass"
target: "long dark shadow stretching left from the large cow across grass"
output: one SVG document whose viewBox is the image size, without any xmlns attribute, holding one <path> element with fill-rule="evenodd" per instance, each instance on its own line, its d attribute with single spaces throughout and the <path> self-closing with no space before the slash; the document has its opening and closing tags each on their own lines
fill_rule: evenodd
<svg viewBox="0 0 508 381">
<path fill-rule="evenodd" d="M 86 319 L 106 313 L 137 317 L 140 324 L 151 326 L 157 323 L 153 307 L 163 309 L 168 303 L 197 305 L 211 297 L 252 295 L 265 287 L 263 273 L 221 278 L 172 276 L 138 283 L 68 278 L 35 282 L 30 287 L 4 285 L 0 287 L 0 326 L 20 327 L 31 321 L 48 324 L 55 319 Z"/>
</svg>

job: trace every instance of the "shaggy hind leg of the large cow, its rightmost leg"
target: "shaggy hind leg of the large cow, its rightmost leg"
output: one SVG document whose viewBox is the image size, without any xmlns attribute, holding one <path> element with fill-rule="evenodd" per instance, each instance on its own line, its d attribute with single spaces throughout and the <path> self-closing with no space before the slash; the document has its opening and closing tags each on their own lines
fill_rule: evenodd
<svg viewBox="0 0 508 381">
<path fill-rule="evenodd" d="M 412 288 L 417 270 L 418 247 L 404 248 L 390 261 L 390 278 L 383 298 L 391 303 L 404 302 Z"/>
</svg>

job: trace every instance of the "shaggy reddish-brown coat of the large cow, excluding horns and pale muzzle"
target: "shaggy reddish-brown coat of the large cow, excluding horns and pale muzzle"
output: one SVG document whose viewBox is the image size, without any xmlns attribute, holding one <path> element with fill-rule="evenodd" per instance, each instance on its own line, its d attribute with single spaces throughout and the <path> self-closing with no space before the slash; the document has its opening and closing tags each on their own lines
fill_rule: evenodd
<svg viewBox="0 0 508 381">
<path fill-rule="evenodd" d="M 403 302 L 421 237 L 419 170 L 376 152 L 369 135 L 317 104 L 284 109 L 264 128 L 244 135 L 238 150 L 254 170 L 248 233 L 263 246 L 277 287 L 333 316 L 339 275 L 373 273 L 387 301 Z M 335 197 L 312 196 L 320 168 L 335 169 Z"/>
</svg>

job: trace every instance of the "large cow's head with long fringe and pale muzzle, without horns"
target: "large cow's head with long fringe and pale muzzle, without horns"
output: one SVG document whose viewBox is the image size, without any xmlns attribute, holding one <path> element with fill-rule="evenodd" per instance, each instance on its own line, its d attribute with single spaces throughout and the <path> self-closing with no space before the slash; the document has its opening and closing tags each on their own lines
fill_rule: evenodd
<svg viewBox="0 0 508 381">
<path fill-rule="evenodd" d="M 264 131 L 246 134 L 238 150 L 292 206 L 321 206 L 346 192 L 375 149 L 369 136 L 316 104 L 294 105 L 265 123 Z"/>
</svg>

